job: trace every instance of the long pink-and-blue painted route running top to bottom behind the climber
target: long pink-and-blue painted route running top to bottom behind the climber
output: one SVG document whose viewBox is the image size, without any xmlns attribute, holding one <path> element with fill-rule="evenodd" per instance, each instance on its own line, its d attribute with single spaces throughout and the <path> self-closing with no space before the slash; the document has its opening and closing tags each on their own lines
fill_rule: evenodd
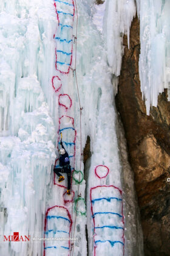
<svg viewBox="0 0 170 256">
<path fill-rule="evenodd" d="M 77 132 L 74 127 L 74 119 L 72 116 L 72 99 L 63 89 L 62 80 L 63 76 L 67 76 L 72 64 L 73 55 L 73 18 L 75 14 L 75 8 L 73 1 L 54 1 L 54 7 L 56 12 L 56 20 L 58 22 L 58 28 L 54 35 L 56 43 L 55 47 L 55 69 L 56 74 L 52 77 L 52 87 L 58 98 L 58 113 L 59 113 L 59 129 L 58 129 L 58 146 L 60 148 L 60 134 L 63 134 L 63 144 L 69 154 L 70 166 L 72 170 L 75 167 L 75 141 Z M 67 79 L 67 77 L 64 77 Z M 62 93 L 59 94 L 59 91 Z M 69 115 L 67 111 L 69 110 Z M 60 167 L 59 160 L 56 159 L 55 166 Z M 60 205 L 52 205 L 46 212 L 44 236 L 55 237 L 56 241 L 53 243 L 44 242 L 44 256 L 45 255 L 70 255 L 70 232 L 72 229 L 72 204 L 75 191 L 71 191 L 71 195 L 67 195 L 67 180 L 65 179 L 62 184 L 58 183 L 58 178 L 54 174 L 54 185 L 58 187 L 60 191 L 60 198 L 58 202 Z M 56 204 L 58 204 L 56 202 Z M 66 240 L 59 241 L 57 238 L 65 238 Z"/>
</svg>

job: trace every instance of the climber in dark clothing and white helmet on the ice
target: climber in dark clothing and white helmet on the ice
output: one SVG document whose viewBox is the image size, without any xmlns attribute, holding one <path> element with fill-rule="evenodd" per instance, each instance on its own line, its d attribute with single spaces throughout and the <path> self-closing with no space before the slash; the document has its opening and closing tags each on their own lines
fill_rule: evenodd
<svg viewBox="0 0 170 256">
<path fill-rule="evenodd" d="M 64 180 L 64 176 L 61 175 L 61 173 L 67 173 L 67 194 L 70 194 L 72 169 L 70 166 L 69 154 L 67 153 L 66 149 L 63 146 L 62 139 L 60 144 L 61 144 L 61 149 L 59 151 L 60 153 L 59 162 L 60 162 L 61 168 L 56 168 L 56 166 L 54 166 L 53 171 L 59 177 L 58 182 L 62 182 Z"/>
</svg>

